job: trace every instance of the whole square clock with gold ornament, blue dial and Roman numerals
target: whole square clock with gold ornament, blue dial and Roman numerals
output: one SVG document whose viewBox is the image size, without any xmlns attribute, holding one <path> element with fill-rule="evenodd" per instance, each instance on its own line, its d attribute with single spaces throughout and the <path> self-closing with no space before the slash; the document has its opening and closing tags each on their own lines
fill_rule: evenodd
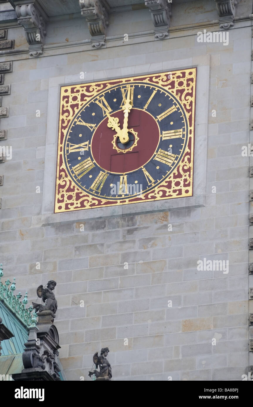
<svg viewBox="0 0 253 407">
<path fill-rule="evenodd" d="M 192 195 L 196 68 L 63 87 L 55 212 Z"/>
</svg>

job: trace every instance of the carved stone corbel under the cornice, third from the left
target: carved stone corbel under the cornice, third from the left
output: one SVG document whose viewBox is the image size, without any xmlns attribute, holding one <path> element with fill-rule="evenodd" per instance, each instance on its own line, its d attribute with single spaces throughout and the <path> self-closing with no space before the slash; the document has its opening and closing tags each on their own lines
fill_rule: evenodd
<svg viewBox="0 0 253 407">
<path fill-rule="evenodd" d="M 169 37 L 171 4 L 167 0 L 145 0 L 145 6 L 150 9 L 155 39 Z"/>
</svg>

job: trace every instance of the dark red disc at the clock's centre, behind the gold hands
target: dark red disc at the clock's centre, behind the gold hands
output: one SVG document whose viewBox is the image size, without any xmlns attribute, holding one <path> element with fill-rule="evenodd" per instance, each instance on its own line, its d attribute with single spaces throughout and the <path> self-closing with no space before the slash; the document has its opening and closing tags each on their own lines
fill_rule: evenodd
<svg viewBox="0 0 253 407">
<path fill-rule="evenodd" d="M 122 129 L 123 110 L 115 112 L 111 116 L 119 118 L 119 125 Z M 149 113 L 141 109 L 132 108 L 130 110 L 128 129 L 133 129 L 139 140 L 131 151 L 125 153 L 123 151 L 128 146 L 121 145 L 118 138 L 112 144 L 116 131 L 109 128 L 107 124 L 108 118 L 106 117 L 95 130 L 91 141 L 92 156 L 103 170 L 111 173 L 128 173 L 144 166 L 152 158 L 159 143 L 160 131 L 156 120 Z M 134 137 L 132 134 L 129 136 L 131 139 Z M 130 142 L 129 147 L 132 147 L 132 144 Z M 115 145 L 120 152 L 113 148 Z"/>
</svg>

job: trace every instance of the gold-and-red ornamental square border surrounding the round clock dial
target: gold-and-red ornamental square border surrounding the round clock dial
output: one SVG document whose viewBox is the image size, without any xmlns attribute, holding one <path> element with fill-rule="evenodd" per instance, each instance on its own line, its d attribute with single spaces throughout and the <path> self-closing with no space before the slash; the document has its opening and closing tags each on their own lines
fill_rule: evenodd
<svg viewBox="0 0 253 407">
<path fill-rule="evenodd" d="M 173 70 L 151 75 L 139 75 L 107 81 L 84 83 L 80 85 L 62 86 L 60 95 L 59 113 L 59 136 L 57 149 L 57 175 L 55 187 L 55 213 L 69 212 L 73 210 L 101 208 L 105 206 L 118 206 L 138 202 L 158 201 L 193 195 L 193 158 L 194 158 L 194 125 L 196 103 L 196 71 L 197 68 Z M 183 106 L 188 124 L 188 135 L 185 138 L 187 147 L 182 159 L 165 178 L 161 184 L 155 186 L 149 192 L 144 192 L 138 197 L 124 197 L 116 200 L 104 199 L 83 191 L 78 182 L 68 174 L 64 163 L 64 140 L 67 136 L 70 123 L 73 118 L 87 105 L 94 96 L 107 92 L 115 85 L 127 85 L 128 83 L 143 82 L 147 85 L 157 85 L 171 92 L 180 105 Z M 183 84 L 181 84 L 183 82 Z M 178 169 L 182 177 L 175 178 Z M 186 171 L 186 172 L 184 172 Z M 183 176 L 184 173 L 184 176 Z M 166 188 L 166 183 L 172 182 L 171 188 Z M 175 185 L 180 182 L 180 185 Z M 184 186 L 186 182 L 187 186 Z M 189 185 L 188 185 L 189 184 Z M 179 191 L 181 190 L 181 193 Z"/>
</svg>

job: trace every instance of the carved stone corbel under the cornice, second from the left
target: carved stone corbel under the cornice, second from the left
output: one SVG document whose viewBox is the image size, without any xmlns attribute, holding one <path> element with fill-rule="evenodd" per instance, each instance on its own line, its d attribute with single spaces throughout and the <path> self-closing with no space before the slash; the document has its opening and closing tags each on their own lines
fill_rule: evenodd
<svg viewBox="0 0 253 407">
<path fill-rule="evenodd" d="M 106 45 L 106 28 L 109 24 L 108 13 L 101 0 L 79 0 L 81 15 L 86 18 L 91 35 L 92 48 Z"/>
</svg>

